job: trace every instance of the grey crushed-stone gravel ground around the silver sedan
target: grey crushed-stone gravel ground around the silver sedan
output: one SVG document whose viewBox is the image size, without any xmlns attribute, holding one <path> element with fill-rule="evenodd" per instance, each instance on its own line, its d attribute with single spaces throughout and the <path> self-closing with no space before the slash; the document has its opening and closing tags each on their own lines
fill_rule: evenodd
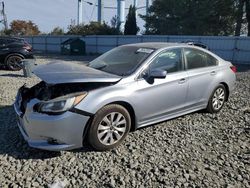
<svg viewBox="0 0 250 188">
<path fill-rule="evenodd" d="M 0 187 L 56 181 L 66 187 L 250 187 L 250 72 L 244 71 L 218 114 L 197 112 L 137 130 L 108 152 L 88 146 L 47 152 L 26 144 L 12 107 L 17 89 L 39 79 L 0 70 Z"/>
</svg>

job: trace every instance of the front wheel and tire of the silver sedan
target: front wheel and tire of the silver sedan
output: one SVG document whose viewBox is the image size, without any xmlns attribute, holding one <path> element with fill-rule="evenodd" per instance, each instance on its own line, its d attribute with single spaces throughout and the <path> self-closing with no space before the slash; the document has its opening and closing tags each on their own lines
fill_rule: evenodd
<svg viewBox="0 0 250 188">
<path fill-rule="evenodd" d="M 110 104 L 100 109 L 90 125 L 87 139 L 98 151 L 117 147 L 131 127 L 129 112 L 122 106 Z"/>
</svg>

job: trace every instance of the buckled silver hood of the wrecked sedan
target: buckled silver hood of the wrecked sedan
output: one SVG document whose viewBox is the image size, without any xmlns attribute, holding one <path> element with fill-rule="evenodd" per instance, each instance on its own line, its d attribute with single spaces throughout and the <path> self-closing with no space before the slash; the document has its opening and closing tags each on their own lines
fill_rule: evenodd
<svg viewBox="0 0 250 188">
<path fill-rule="evenodd" d="M 120 76 L 87 67 L 83 64 L 54 61 L 40 65 L 33 73 L 48 84 L 117 82 Z"/>
</svg>

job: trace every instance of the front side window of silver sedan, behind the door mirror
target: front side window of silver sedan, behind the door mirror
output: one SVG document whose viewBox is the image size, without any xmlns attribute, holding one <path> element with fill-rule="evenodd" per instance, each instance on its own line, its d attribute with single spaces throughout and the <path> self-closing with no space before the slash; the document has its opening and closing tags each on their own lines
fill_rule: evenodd
<svg viewBox="0 0 250 188">
<path fill-rule="evenodd" d="M 167 73 L 183 70 L 182 50 L 173 49 L 161 52 L 150 64 L 150 69 L 163 69 Z"/>
</svg>

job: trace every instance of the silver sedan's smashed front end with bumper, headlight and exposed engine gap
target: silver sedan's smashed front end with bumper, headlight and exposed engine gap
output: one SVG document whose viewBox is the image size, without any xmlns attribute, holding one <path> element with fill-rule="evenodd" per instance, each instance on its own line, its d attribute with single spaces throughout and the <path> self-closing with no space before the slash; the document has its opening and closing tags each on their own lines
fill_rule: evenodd
<svg viewBox="0 0 250 188">
<path fill-rule="evenodd" d="M 112 84 L 115 83 L 47 84 L 42 81 L 31 88 L 22 86 L 14 108 L 24 139 L 31 147 L 52 151 L 82 147 L 91 114 L 75 112 L 74 107 L 91 90 Z"/>
</svg>

